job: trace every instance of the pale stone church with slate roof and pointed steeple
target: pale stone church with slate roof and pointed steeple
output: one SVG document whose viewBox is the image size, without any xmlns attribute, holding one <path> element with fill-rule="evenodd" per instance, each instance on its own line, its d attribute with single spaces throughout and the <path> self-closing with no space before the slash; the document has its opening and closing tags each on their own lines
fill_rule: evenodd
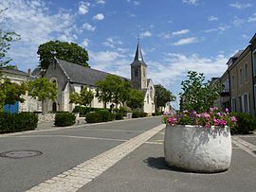
<svg viewBox="0 0 256 192">
<path fill-rule="evenodd" d="M 140 90 L 144 94 L 144 105 L 142 112 L 152 114 L 155 113 L 155 88 L 152 79 L 147 79 L 147 64 L 143 60 L 142 52 L 139 43 L 135 59 L 131 63 L 131 82 L 134 89 Z M 68 61 L 55 59 L 48 66 L 45 78 L 50 82 L 54 82 L 58 88 L 58 96 L 56 100 L 48 100 L 44 107 L 48 112 L 64 111 L 72 112 L 75 104 L 69 103 L 69 96 L 73 92 L 80 93 L 84 87 L 91 90 L 96 95 L 96 82 L 106 78 L 109 73 L 102 72 L 96 69 L 83 67 Z M 113 75 L 113 74 L 111 74 Z M 126 79 L 122 78 L 121 79 Z M 107 103 L 107 108 L 110 108 L 112 103 Z M 93 108 L 103 108 L 103 103 L 99 102 L 94 96 L 91 102 Z"/>
</svg>

